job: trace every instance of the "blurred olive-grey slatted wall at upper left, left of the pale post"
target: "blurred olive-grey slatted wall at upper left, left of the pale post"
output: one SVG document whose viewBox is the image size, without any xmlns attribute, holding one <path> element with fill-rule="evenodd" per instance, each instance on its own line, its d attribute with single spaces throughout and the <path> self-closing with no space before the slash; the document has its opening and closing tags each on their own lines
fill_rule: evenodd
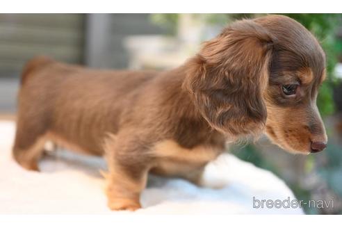
<svg viewBox="0 0 342 228">
<path fill-rule="evenodd" d="M 17 76 L 40 54 L 81 63 L 84 25 L 77 14 L 0 14 L 0 76 Z"/>
</svg>

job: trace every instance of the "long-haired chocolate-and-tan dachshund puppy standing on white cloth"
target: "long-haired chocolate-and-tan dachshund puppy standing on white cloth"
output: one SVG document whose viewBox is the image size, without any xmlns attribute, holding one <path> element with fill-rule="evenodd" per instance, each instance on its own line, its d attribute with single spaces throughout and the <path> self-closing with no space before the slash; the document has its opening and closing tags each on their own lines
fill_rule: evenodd
<svg viewBox="0 0 342 228">
<path fill-rule="evenodd" d="M 289 152 L 320 152 L 316 106 L 325 54 L 279 15 L 230 24 L 165 72 L 90 70 L 33 58 L 22 74 L 13 155 L 38 170 L 44 142 L 105 156 L 108 206 L 140 208 L 147 173 L 198 183 L 225 142 L 266 134 Z"/>
</svg>

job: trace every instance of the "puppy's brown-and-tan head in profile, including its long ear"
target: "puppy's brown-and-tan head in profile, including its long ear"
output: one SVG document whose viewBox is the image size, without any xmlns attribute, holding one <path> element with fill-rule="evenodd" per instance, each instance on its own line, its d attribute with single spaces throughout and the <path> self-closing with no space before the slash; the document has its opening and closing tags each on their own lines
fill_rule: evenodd
<svg viewBox="0 0 342 228">
<path fill-rule="evenodd" d="M 325 148 L 316 106 L 325 54 L 293 19 L 268 15 L 234 22 L 186 67 L 184 87 L 214 129 L 233 138 L 266 130 L 288 152 Z"/>
</svg>

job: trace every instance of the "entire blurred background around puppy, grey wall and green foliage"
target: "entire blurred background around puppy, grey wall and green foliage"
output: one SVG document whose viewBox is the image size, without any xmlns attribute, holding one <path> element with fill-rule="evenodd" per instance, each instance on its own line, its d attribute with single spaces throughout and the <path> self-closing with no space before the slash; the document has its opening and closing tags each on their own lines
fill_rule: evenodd
<svg viewBox="0 0 342 228">
<path fill-rule="evenodd" d="M 95 68 L 177 67 L 235 19 L 262 14 L 0 14 L 0 120 L 15 120 L 24 63 L 44 54 Z M 334 208 L 304 208 L 309 214 L 342 213 L 342 15 L 288 14 L 320 40 L 328 77 L 318 107 L 329 137 L 325 152 L 292 155 L 261 138 L 229 149 L 274 172 L 298 199 L 334 199 Z M 304 205 L 305 206 L 305 205 Z"/>
</svg>

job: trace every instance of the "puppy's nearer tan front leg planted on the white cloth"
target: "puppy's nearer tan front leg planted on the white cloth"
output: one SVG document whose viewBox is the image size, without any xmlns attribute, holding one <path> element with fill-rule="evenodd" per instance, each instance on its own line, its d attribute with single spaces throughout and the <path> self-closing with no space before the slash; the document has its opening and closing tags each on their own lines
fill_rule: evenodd
<svg viewBox="0 0 342 228">
<path fill-rule="evenodd" d="M 128 137 L 110 137 L 105 144 L 109 170 L 106 175 L 108 207 L 112 210 L 140 209 L 140 193 L 147 182 L 149 160 L 145 147 Z"/>
</svg>

